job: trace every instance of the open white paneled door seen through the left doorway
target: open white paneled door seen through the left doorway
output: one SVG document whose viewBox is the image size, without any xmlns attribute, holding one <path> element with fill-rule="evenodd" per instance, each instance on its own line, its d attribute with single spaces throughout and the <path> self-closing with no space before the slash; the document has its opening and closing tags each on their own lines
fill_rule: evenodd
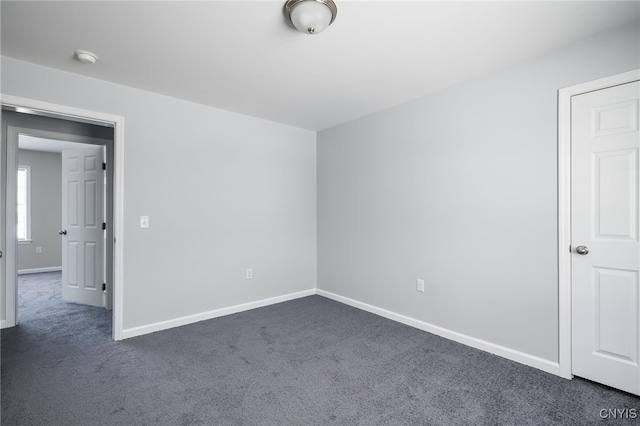
<svg viewBox="0 0 640 426">
<path fill-rule="evenodd" d="M 104 306 L 103 147 L 62 152 L 62 299 Z"/>
</svg>

